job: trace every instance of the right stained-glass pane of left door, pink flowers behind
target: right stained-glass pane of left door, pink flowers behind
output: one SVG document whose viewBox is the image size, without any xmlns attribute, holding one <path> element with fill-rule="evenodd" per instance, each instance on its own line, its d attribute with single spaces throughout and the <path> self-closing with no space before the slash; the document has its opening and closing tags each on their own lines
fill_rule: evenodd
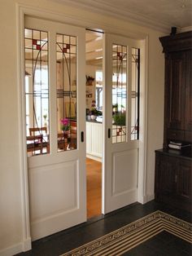
<svg viewBox="0 0 192 256">
<path fill-rule="evenodd" d="M 58 152 L 77 148 L 76 38 L 56 36 Z"/>
</svg>

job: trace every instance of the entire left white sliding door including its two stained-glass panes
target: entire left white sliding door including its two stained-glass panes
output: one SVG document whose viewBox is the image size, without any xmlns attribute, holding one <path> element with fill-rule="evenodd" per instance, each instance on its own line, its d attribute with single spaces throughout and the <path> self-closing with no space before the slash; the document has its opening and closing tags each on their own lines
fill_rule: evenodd
<svg viewBox="0 0 192 256">
<path fill-rule="evenodd" d="M 33 240 L 86 221 L 85 29 L 25 17 Z"/>
</svg>

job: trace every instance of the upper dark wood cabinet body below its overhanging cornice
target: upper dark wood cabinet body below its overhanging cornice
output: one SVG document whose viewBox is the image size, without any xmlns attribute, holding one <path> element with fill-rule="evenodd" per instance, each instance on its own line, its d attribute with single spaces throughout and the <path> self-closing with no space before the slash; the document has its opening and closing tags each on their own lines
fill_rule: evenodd
<svg viewBox="0 0 192 256">
<path fill-rule="evenodd" d="M 166 55 L 164 145 L 169 139 L 192 140 L 192 51 Z"/>
</svg>

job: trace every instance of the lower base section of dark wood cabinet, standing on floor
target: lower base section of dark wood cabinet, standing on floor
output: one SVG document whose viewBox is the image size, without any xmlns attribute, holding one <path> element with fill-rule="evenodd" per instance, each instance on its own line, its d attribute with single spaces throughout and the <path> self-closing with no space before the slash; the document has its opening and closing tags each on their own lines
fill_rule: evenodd
<svg viewBox="0 0 192 256">
<path fill-rule="evenodd" d="M 155 200 L 192 210 L 192 160 L 168 150 L 155 151 Z"/>
</svg>

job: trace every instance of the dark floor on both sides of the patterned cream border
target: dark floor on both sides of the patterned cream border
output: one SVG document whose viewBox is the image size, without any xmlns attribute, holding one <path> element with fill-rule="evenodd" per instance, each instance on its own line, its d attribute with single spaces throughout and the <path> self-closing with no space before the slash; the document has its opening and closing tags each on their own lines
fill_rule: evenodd
<svg viewBox="0 0 192 256">
<path fill-rule="evenodd" d="M 191 214 L 184 210 L 177 210 L 169 205 L 159 204 L 155 201 L 151 201 L 145 205 L 137 203 L 107 214 L 105 218 L 103 216 L 93 218 L 87 223 L 34 241 L 30 251 L 17 255 L 58 256 L 89 241 L 93 241 L 100 236 L 106 235 L 109 232 L 113 232 L 117 228 L 132 223 L 138 218 L 146 216 L 146 214 L 151 214 L 155 210 L 162 210 L 165 213 L 172 214 L 177 218 L 182 218 L 191 223 Z M 136 248 L 129 250 L 129 252 L 124 255 L 185 256 L 192 255 L 191 253 L 192 249 L 190 243 L 168 232 L 161 232 L 159 235 L 152 237 Z"/>
</svg>

